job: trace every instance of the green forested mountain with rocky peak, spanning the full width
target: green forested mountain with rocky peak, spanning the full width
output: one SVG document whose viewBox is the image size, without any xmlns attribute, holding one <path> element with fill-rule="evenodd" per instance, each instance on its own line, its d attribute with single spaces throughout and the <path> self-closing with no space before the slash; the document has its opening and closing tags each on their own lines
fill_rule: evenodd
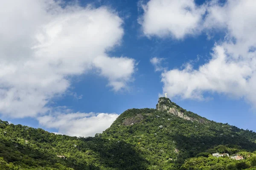
<svg viewBox="0 0 256 170">
<path fill-rule="evenodd" d="M 156 109 L 128 109 L 95 137 L 0 121 L 0 170 L 256 169 L 255 150 L 253 131 L 210 121 L 164 97 Z"/>
</svg>

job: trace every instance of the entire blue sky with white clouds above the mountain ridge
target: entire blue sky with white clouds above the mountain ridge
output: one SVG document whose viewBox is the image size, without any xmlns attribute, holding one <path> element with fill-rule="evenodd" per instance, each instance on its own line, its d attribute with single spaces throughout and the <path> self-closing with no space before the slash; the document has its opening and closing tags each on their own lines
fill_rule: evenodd
<svg viewBox="0 0 256 170">
<path fill-rule="evenodd" d="M 12 4 L 0 29 L 11 35 L 0 44 L 1 119 L 93 136 L 167 92 L 188 111 L 256 130 L 253 0 Z"/>
</svg>

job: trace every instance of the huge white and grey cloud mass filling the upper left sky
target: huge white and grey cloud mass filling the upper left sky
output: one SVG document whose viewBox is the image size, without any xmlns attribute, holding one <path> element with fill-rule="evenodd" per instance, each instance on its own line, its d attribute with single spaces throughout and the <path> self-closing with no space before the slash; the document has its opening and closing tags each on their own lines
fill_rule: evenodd
<svg viewBox="0 0 256 170">
<path fill-rule="evenodd" d="M 55 0 L 8 0 L 0 6 L 0 113 L 36 116 L 70 87 L 96 71 L 114 91 L 132 81 L 136 63 L 106 53 L 120 44 L 122 19 L 106 7 Z M 96 116 L 96 117 L 99 117 Z"/>
</svg>

